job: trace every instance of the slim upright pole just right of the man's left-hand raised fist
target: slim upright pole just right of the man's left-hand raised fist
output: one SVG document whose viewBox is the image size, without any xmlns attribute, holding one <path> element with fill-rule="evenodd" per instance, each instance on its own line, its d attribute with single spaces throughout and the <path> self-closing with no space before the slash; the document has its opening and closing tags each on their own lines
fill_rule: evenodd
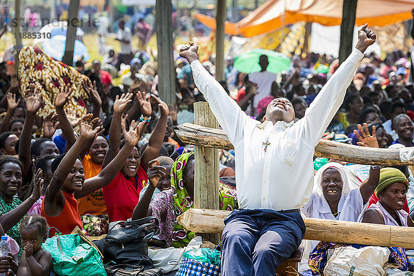
<svg viewBox="0 0 414 276">
<path fill-rule="evenodd" d="M 216 59 L 215 78 L 224 80 L 224 24 L 226 23 L 226 0 L 217 0 L 216 6 Z"/>
</svg>

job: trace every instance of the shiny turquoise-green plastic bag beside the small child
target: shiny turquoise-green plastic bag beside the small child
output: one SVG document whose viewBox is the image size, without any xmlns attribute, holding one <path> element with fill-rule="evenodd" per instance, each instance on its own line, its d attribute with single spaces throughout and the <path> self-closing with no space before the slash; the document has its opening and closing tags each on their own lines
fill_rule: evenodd
<svg viewBox="0 0 414 276">
<path fill-rule="evenodd" d="M 106 276 L 98 251 L 79 235 L 55 235 L 42 245 L 52 254 L 52 270 L 60 276 Z"/>
</svg>

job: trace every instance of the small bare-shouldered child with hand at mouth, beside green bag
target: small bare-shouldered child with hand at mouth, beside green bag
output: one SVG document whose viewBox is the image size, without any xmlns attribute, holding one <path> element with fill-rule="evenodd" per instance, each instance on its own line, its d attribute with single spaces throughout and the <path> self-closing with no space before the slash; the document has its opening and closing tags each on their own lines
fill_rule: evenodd
<svg viewBox="0 0 414 276">
<path fill-rule="evenodd" d="M 20 221 L 21 248 L 17 276 L 48 276 L 52 270 L 52 255 L 41 244 L 46 241 L 48 223 L 39 215 L 28 215 Z"/>
</svg>

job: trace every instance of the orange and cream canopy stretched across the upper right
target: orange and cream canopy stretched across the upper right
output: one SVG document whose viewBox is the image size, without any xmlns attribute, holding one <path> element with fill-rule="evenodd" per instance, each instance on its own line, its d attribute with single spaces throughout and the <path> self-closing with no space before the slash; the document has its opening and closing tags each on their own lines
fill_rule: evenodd
<svg viewBox="0 0 414 276">
<path fill-rule="evenodd" d="M 341 24 L 342 3 L 346 0 L 268 0 L 237 23 L 226 21 L 226 34 L 254 37 L 299 21 L 316 22 L 324 26 Z M 413 0 L 359 0 L 357 26 L 386 26 L 412 18 Z M 215 30 L 215 18 L 203 14 L 195 17 Z"/>
</svg>

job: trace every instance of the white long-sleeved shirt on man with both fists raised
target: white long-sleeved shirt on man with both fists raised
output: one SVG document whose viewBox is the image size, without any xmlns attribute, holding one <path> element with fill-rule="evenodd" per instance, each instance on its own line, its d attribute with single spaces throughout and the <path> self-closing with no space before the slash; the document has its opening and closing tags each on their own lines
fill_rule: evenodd
<svg viewBox="0 0 414 276">
<path fill-rule="evenodd" d="M 341 106 L 362 57 L 362 52 L 353 50 L 304 118 L 295 124 L 277 121 L 275 125 L 248 117 L 199 61 L 191 63 L 197 88 L 235 147 L 239 208 L 289 210 L 308 202 L 313 190 L 315 146 Z M 270 145 L 265 151 L 267 139 Z"/>
</svg>

